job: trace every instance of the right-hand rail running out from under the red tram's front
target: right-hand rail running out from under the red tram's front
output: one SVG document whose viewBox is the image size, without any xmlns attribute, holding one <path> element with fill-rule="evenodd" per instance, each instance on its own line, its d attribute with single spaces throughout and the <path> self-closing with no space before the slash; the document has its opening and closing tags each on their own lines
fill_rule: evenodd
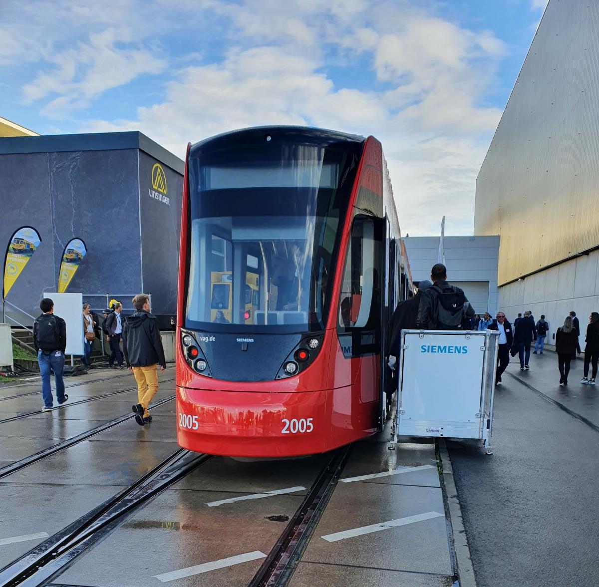
<svg viewBox="0 0 599 587">
<path fill-rule="evenodd" d="M 248 587 L 287 585 L 337 486 L 351 450 L 352 445 L 335 450 Z"/>
</svg>

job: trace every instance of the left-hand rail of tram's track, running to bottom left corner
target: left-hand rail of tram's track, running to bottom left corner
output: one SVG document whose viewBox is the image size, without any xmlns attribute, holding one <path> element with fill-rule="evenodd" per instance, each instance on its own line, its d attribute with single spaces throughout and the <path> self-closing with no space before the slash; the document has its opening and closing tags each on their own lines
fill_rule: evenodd
<svg viewBox="0 0 599 587">
<path fill-rule="evenodd" d="M 0 586 L 48 585 L 71 567 L 78 556 L 104 540 L 129 515 L 210 458 L 212 455 L 176 450 L 128 488 L 0 569 Z"/>
</svg>

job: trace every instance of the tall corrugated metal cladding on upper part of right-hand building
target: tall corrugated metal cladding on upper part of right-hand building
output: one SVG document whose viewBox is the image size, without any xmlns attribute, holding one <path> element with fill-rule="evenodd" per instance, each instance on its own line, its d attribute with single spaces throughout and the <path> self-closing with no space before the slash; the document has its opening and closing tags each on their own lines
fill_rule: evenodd
<svg viewBox="0 0 599 587">
<path fill-rule="evenodd" d="M 599 1 L 550 0 L 476 182 L 500 285 L 599 245 Z"/>
</svg>

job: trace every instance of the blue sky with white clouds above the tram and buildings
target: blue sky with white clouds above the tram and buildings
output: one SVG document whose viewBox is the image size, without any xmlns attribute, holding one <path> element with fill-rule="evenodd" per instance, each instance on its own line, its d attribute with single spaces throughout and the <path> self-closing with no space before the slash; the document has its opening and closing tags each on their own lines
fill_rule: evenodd
<svg viewBox="0 0 599 587">
<path fill-rule="evenodd" d="M 183 156 L 301 124 L 383 143 L 403 233 L 471 234 L 476 175 L 546 0 L 3 0 L 0 116 Z M 549 8 L 550 10 L 550 8 Z"/>
</svg>

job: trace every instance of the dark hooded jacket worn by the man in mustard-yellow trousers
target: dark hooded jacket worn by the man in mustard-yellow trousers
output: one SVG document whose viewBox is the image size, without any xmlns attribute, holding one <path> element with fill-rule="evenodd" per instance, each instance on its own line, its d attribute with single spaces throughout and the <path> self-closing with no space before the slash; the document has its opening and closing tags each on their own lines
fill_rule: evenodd
<svg viewBox="0 0 599 587">
<path fill-rule="evenodd" d="M 123 352 L 127 367 L 149 367 L 156 363 L 167 366 L 156 316 L 146 310 L 137 310 L 125 319 Z"/>
</svg>

